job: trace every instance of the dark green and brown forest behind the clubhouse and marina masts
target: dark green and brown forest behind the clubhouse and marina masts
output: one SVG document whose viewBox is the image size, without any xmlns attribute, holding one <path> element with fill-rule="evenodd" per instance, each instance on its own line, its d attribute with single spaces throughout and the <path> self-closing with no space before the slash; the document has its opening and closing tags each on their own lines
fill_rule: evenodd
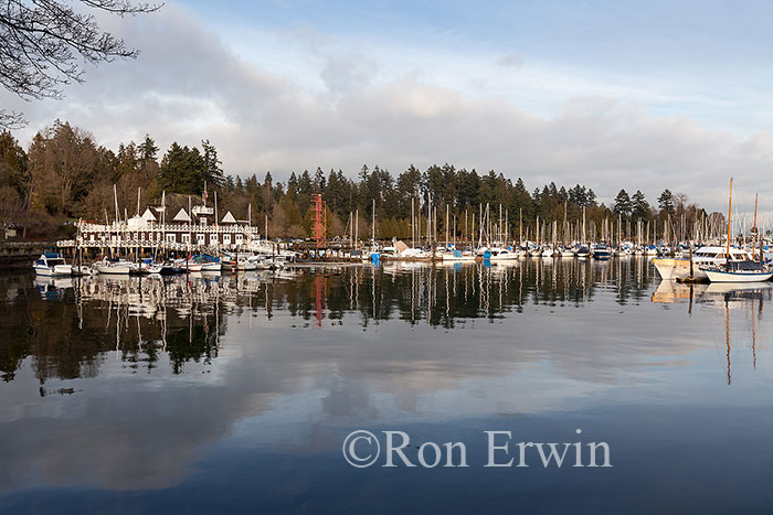
<svg viewBox="0 0 773 515">
<path fill-rule="evenodd" d="M 416 219 L 423 216 L 426 221 L 430 202 L 437 210 L 438 234 L 445 234 L 448 213 L 447 223 L 457 236 L 470 234 L 474 217 L 487 204 L 495 217 L 501 205 L 507 214 L 507 232 L 513 237 L 526 230 L 523 227 L 533 230 L 538 218 L 548 224 L 564 219 L 574 223 L 583 207 L 592 226 L 601 227 L 605 219 L 615 224 L 623 221 L 621 230 L 628 237 L 635 235 L 638 221 L 648 222 L 655 235 L 660 234 L 664 224 L 689 227 L 697 218 L 706 217 L 706 212 L 689 203 L 685 194 L 668 189 L 649 192 L 657 195 L 650 204 L 643 192 L 629 194 L 621 184 L 620 193 L 607 205 L 600 202 L 591 186 L 582 184 L 551 182 L 529 190 L 517 176 L 517 165 L 513 169 L 481 172 L 456 169 L 451 163 L 425 170 L 409 164 L 400 171 L 378 164 L 363 164 L 360 170 L 319 165 L 294 171 L 286 182 L 279 182 L 271 172 L 247 178 L 227 173 L 215 146 L 208 140 L 199 146 L 174 142 L 161 150 L 148 135 L 142 141 L 121 143 L 113 150 L 99 146 L 88 131 L 56 120 L 27 146 L 9 131 L 0 133 L 0 223 L 17 228 L 20 238 L 71 236 L 73 221 L 104 223 L 106 217 L 110 222 L 115 218 L 114 185 L 119 216 L 124 217 L 138 208 L 138 190 L 141 210 L 159 204 L 165 192 L 172 210 L 201 199 L 205 184 L 210 202 L 216 192 L 221 216 L 226 211 L 237 219 L 251 216 L 260 227 L 267 221 L 271 237 L 308 237 L 315 193 L 321 193 L 327 203 L 330 237 L 346 234 L 354 213 L 359 234 L 366 237 L 374 206 L 377 237 L 407 238 L 412 234 L 412 210 Z"/>
</svg>

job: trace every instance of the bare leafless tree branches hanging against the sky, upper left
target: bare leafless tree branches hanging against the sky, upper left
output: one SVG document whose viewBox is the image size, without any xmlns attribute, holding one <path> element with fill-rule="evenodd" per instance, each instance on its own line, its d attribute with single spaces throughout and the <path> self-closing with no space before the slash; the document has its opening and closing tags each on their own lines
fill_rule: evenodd
<svg viewBox="0 0 773 515">
<path fill-rule="evenodd" d="M 131 0 L 2 0 L 0 84 L 24 100 L 61 98 L 64 85 L 83 82 L 78 57 L 98 64 L 139 54 L 103 32 L 95 11 L 123 17 L 160 7 Z M 0 109 L 0 128 L 23 124 L 21 114 Z"/>
</svg>

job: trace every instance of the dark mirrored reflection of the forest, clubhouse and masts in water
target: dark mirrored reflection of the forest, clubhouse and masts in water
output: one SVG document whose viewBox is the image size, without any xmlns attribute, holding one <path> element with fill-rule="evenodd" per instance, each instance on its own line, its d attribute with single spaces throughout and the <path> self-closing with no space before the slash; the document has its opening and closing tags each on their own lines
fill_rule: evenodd
<svg viewBox="0 0 773 515">
<path fill-rule="evenodd" d="M 533 259 L 511 265 L 428 267 L 304 267 L 282 272 L 188 277 L 4 277 L 0 354 L 3 380 L 33 358 L 41 383 L 49 377 L 93 377 L 108 351 L 129 368 L 152 369 L 166 353 L 174 373 L 186 362 L 218 356 L 227 316 L 271 320 L 286 311 L 303 325 L 359 324 L 390 319 L 446 330 L 474 319 L 504 319 L 530 304 L 582 307 L 597 291 L 620 304 L 640 301 L 652 281 L 643 259 L 591 262 Z M 250 319 L 252 320 L 252 319 Z M 251 322 L 252 323 L 252 322 Z"/>
</svg>

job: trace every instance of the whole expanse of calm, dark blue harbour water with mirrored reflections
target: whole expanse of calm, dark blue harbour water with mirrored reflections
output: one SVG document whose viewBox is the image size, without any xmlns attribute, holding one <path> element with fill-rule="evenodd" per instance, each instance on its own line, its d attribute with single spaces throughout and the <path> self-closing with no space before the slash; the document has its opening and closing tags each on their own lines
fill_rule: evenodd
<svg viewBox="0 0 773 515">
<path fill-rule="evenodd" d="M 3 275 L 0 512 L 770 513 L 770 288 L 639 258 Z M 358 429 L 469 466 L 350 466 Z M 613 466 L 486 468 L 484 431 Z"/>
</svg>

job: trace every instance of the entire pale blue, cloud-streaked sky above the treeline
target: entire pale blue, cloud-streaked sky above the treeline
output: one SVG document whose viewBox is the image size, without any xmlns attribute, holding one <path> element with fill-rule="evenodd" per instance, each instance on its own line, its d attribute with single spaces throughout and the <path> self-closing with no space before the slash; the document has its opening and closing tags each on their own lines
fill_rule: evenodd
<svg viewBox="0 0 773 515">
<path fill-rule="evenodd" d="M 773 211 L 773 3 L 169 1 L 100 25 L 141 54 L 25 103 L 100 144 L 209 139 L 226 174 L 433 163 Z"/>
</svg>

